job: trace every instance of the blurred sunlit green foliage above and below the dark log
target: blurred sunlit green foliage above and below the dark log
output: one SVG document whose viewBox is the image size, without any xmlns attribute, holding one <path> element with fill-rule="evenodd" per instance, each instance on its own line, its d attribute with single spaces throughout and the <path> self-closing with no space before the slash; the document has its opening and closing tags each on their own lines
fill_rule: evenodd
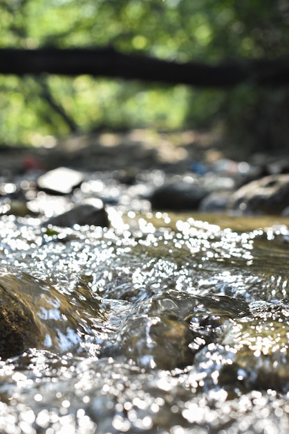
<svg viewBox="0 0 289 434">
<path fill-rule="evenodd" d="M 288 56 L 287 0 L 10 0 L 0 2 L 0 48 L 114 47 L 161 60 L 216 64 Z M 0 141 L 45 144 L 100 128 L 223 125 L 232 140 L 288 144 L 288 86 L 197 89 L 138 80 L 0 76 Z"/>
</svg>

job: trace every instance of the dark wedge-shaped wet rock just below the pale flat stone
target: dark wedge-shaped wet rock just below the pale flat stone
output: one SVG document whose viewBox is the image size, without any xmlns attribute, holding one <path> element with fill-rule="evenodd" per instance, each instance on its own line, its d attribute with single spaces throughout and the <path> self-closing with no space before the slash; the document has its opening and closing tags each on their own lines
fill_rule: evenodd
<svg viewBox="0 0 289 434">
<path fill-rule="evenodd" d="M 45 226 L 54 225 L 60 227 L 73 227 L 73 225 L 94 225 L 109 227 L 109 217 L 100 199 L 83 202 L 75 205 L 72 209 L 49 218 Z"/>
</svg>

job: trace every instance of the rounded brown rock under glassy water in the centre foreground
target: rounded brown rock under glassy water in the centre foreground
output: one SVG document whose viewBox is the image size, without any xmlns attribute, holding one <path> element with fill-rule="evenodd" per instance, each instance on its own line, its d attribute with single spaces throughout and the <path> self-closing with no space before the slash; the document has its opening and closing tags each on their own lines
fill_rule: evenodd
<svg viewBox="0 0 289 434">
<path fill-rule="evenodd" d="M 174 313 L 176 303 L 169 297 L 136 303 L 120 324 L 115 346 L 108 354 L 132 359 L 145 369 L 171 370 L 191 365 L 194 339 L 189 322 Z"/>
</svg>

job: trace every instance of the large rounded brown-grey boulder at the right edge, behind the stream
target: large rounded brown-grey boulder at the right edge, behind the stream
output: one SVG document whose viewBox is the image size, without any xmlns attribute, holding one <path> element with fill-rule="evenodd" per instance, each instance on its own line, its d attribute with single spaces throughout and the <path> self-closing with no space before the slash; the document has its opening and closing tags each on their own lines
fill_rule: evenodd
<svg viewBox="0 0 289 434">
<path fill-rule="evenodd" d="M 289 205 L 289 175 L 252 181 L 231 197 L 228 209 L 238 214 L 281 214 Z"/>
</svg>

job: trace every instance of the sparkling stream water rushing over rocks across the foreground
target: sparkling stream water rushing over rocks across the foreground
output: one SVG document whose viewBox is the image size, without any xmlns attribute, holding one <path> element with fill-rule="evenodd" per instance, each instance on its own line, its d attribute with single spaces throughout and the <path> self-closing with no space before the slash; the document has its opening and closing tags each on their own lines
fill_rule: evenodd
<svg viewBox="0 0 289 434">
<path fill-rule="evenodd" d="M 289 229 L 216 220 L 3 218 L 1 433 L 288 433 Z"/>
</svg>

